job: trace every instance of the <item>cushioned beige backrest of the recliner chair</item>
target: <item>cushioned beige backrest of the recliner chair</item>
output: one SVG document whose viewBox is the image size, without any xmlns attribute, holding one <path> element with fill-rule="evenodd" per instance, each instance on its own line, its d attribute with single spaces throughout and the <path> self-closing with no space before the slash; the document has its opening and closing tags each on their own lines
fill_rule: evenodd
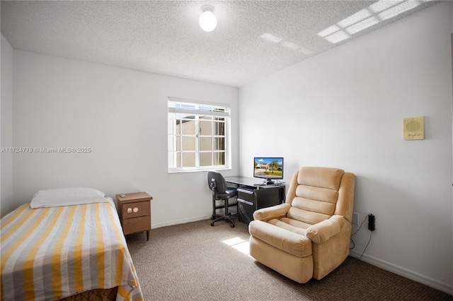
<svg viewBox="0 0 453 301">
<path fill-rule="evenodd" d="M 337 214 L 336 207 L 344 170 L 302 167 L 294 173 L 287 193 L 288 218 L 314 225 Z"/>
</svg>

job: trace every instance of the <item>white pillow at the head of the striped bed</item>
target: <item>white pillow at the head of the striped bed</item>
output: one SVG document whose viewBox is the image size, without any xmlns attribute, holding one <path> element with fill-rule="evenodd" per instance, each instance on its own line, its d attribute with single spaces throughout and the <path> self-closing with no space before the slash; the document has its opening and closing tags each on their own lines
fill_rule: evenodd
<svg viewBox="0 0 453 301">
<path fill-rule="evenodd" d="M 33 196 L 30 202 L 32 209 L 41 207 L 58 207 L 80 205 L 84 203 L 105 203 L 109 199 L 102 191 L 86 188 L 59 188 L 40 190 Z"/>
</svg>

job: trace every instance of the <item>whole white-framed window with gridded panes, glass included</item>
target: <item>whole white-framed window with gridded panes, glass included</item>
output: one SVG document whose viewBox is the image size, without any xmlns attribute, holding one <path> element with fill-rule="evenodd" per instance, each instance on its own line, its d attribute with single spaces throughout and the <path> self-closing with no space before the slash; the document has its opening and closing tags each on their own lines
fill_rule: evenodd
<svg viewBox="0 0 453 301">
<path fill-rule="evenodd" d="M 229 105 L 168 98 L 168 172 L 229 168 Z"/>
</svg>

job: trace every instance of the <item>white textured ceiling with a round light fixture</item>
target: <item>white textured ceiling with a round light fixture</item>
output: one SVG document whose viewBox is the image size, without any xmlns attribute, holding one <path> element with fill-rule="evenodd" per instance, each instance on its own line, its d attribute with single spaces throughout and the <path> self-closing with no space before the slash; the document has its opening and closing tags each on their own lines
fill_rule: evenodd
<svg viewBox="0 0 453 301">
<path fill-rule="evenodd" d="M 14 49 L 240 87 L 433 3 L 2 0 L 1 33 Z"/>
</svg>

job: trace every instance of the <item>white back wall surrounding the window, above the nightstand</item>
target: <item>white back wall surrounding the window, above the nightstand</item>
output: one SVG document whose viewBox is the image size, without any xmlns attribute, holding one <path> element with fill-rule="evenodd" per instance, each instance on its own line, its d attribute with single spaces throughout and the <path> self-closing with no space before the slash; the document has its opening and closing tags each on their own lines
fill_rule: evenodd
<svg viewBox="0 0 453 301">
<path fill-rule="evenodd" d="M 91 153 L 15 154 L 14 200 L 40 189 L 94 187 L 108 196 L 147 191 L 151 223 L 207 218 L 207 173 L 167 173 L 167 98 L 231 104 L 238 172 L 238 89 L 102 64 L 14 51 L 13 145 L 88 147 Z"/>
</svg>

